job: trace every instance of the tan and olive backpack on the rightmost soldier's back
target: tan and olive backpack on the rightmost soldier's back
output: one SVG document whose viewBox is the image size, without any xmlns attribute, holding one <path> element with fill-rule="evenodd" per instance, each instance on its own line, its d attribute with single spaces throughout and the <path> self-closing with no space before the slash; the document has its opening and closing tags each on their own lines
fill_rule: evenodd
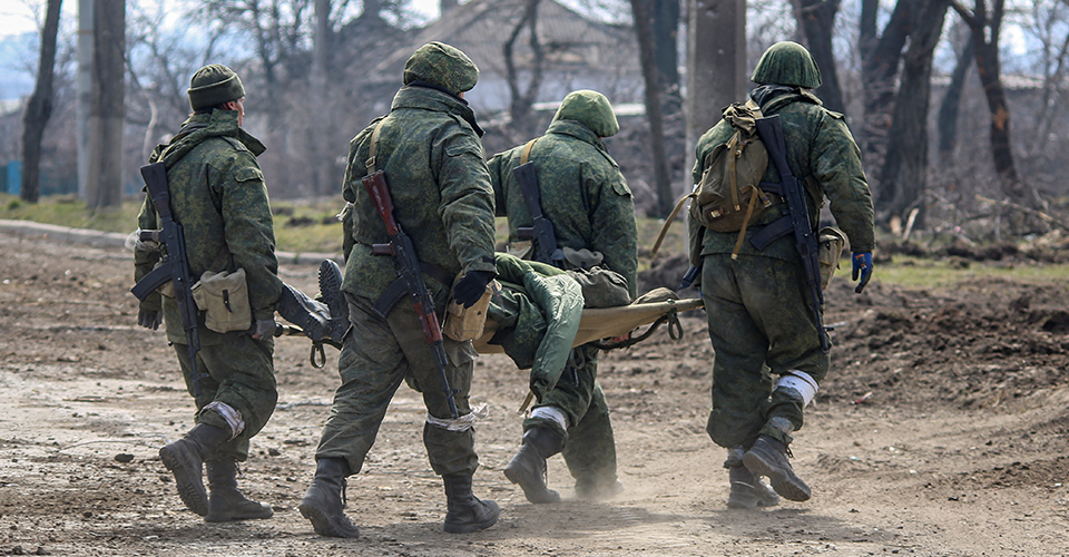
<svg viewBox="0 0 1069 557">
<path fill-rule="evenodd" d="M 761 180 L 768 167 L 768 150 L 757 135 L 761 107 L 753 100 L 733 102 L 724 109 L 723 115 L 734 134 L 705 157 L 700 182 L 694 186 L 694 192 L 676 204 L 654 244 L 651 255 L 657 253 L 668 227 L 687 199 L 692 199 L 690 218 L 696 223 L 715 232 L 738 231 L 733 258 L 742 246 L 746 227 L 772 206 L 772 199 L 761 189 Z"/>
</svg>

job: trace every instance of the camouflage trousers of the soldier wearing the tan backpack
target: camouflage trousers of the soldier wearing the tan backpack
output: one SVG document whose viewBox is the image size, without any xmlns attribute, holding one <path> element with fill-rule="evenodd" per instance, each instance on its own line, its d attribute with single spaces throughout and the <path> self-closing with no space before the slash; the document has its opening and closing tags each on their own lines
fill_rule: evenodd
<svg viewBox="0 0 1069 557">
<path fill-rule="evenodd" d="M 796 370 L 821 382 L 830 364 L 821 351 L 801 263 L 705 255 L 702 299 L 714 351 L 709 437 L 726 448 L 749 448 L 759 434 L 790 443 L 790 433 L 768 421 L 785 418 L 794 430 L 802 429 L 803 401 L 774 390 L 774 375 Z"/>
</svg>

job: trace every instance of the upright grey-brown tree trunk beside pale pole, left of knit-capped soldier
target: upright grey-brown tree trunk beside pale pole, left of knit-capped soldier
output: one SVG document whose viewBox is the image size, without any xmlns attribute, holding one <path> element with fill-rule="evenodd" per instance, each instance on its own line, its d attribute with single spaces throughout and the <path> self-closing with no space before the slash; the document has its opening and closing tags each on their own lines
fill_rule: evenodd
<svg viewBox="0 0 1069 557">
<path fill-rule="evenodd" d="M 92 47 L 86 206 L 111 208 L 122 202 L 122 125 L 126 116 L 124 0 L 96 0 Z"/>
</svg>

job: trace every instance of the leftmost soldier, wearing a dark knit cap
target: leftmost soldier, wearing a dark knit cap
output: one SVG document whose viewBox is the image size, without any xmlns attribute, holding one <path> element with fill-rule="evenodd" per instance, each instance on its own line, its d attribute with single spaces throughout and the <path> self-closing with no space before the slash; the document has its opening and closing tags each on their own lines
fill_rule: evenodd
<svg viewBox="0 0 1069 557">
<path fill-rule="evenodd" d="M 249 439 L 267 423 L 278 398 L 272 332 L 282 282 L 267 188 L 256 164 L 264 145 L 242 129 L 245 89 L 229 68 L 200 68 L 187 92 L 194 114 L 168 145 L 156 147 L 150 162 L 167 167 L 171 212 L 185 229 L 190 276 L 244 270 L 252 322 L 220 333 L 206 328 L 202 314 L 195 364 L 200 392 L 196 392 L 177 302 L 158 293 L 140 302 L 139 325 L 155 330 L 166 322 L 167 340 L 197 407 L 196 426 L 161 448 L 159 457 L 175 475 L 182 501 L 205 520 L 269 518 L 271 507 L 246 499 L 236 479 L 236 462 L 248 457 Z M 137 222 L 141 229 L 159 226 L 148 196 Z M 135 278 L 158 261 L 158 251 L 136 251 Z M 210 497 L 202 463 L 207 463 Z"/>
</svg>

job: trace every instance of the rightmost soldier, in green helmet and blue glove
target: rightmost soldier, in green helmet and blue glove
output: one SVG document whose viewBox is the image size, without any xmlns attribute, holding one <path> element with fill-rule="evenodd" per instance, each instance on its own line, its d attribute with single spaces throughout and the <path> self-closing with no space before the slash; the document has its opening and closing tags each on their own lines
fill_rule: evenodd
<svg viewBox="0 0 1069 557">
<path fill-rule="evenodd" d="M 872 198 L 843 115 L 825 109 L 810 91 L 821 85 L 816 62 L 801 45 L 778 42 L 765 51 L 751 79 L 758 84 L 751 98 L 762 113 L 779 115 L 788 166 L 806 184 L 813 229 L 827 196 L 832 215 L 850 238 L 853 277 L 860 274 L 866 283 L 874 245 Z M 699 138 L 695 183 L 708 154 L 732 134 L 722 119 Z M 769 163 L 763 182 L 779 182 L 775 165 Z M 764 250 L 751 242 L 779 217 L 781 211 L 773 208 L 751 225 L 737 260 L 732 256 L 737 232 L 714 232 L 690 222 L 692 250 L 700 250 L 694 255 L 700 255 L 702 297 L 715 352 L 706 430 L 728 450 L 724 466 L 729 469 L 727 505 L 733 508 L 776 505 L 776 494 L 794 501 L 811 495 L 787 460 L 787 446 L 791 432 L 802 428 L 803 409 L 816 394 L 830 360 L 821 348 L 794 234 Z M 696 240 L 700 233 L 704 238 Z M 775 384 L 772 374 L 779 375 Z M 761 476 L 771 479 L 775 494 Z"/>
</svg>

